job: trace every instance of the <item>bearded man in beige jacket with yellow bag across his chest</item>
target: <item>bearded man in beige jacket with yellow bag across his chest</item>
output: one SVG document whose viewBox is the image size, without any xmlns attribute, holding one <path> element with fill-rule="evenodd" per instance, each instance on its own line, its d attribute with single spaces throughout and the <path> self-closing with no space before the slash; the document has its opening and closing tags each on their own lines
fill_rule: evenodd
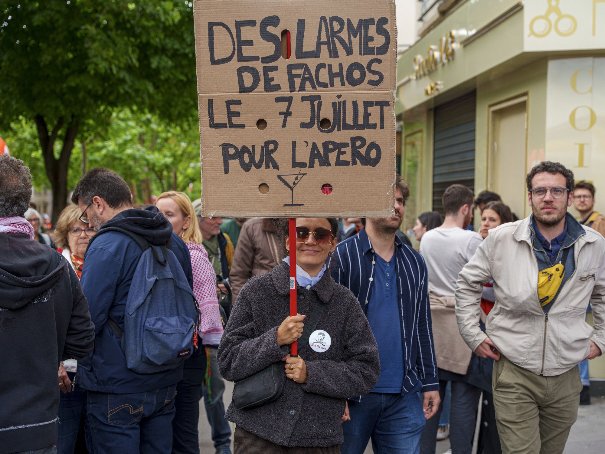
<svg viewBox="0 0 605 454">
<path fill-rule="evenodd" d="M 582 387 L 578 363 L 605 348 L 605 240 L 567 206 L 574 174 L 541 162 L 527 176 L 528 218 L 493 229 L 460 272 L 456 317 L 474 352 L 494 358 L 504 454 L 562 453 Z M 482 284 L 495 305 L 479 329 Z M 584 321 L 592 302 L 595 329 Z"/>
</svg>

